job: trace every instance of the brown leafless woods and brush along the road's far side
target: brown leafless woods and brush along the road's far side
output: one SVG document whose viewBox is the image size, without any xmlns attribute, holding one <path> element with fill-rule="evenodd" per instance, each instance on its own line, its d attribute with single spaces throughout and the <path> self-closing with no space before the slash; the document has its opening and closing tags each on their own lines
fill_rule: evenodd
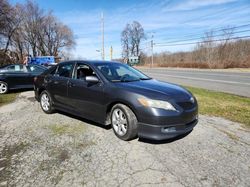
<svg viewBox="0 0 250 187">
<path fill-rule="evenodd" d="M 201 42 L 190 52 L 162 52 L 154 54 L 154 66 L 187 68 L 246 68 L 250 67 L 250 40 L 235 37 L 232 29 L 225 29 L 221 39 L 213 32 L 205 33 Z M 241 39 L 244 38 L 244 39 Z M 141 64 L 151 66 L 151 56 L 141 54 Z"/>
</svg>

